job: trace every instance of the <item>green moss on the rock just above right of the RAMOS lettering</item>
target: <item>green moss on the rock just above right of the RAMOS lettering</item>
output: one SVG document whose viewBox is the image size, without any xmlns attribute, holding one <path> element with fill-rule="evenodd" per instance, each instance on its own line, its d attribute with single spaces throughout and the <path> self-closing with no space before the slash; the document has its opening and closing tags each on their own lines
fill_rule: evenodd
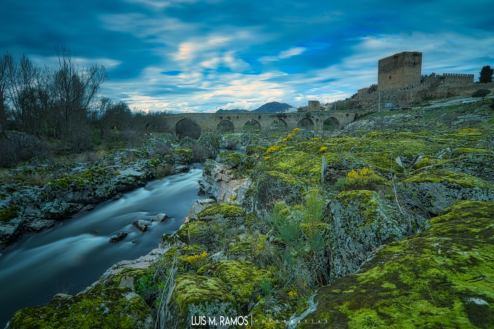
<svg viewBox="0 0 494 329">
<path fill-rule="evenodd" d="M 258 282 L 271 272 L 262 270 L 247 260 L 222 261 L 214 271 L 214 277 L 221 279 L 230 289 L 239 306 L 248 303 L 258 288 Z"/>
</svg>

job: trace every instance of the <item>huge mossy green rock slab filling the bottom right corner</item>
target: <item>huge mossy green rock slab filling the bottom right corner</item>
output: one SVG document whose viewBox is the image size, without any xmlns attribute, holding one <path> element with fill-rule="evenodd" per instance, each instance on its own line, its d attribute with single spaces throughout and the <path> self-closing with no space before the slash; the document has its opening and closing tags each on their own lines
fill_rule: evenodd
<svg viewBox="0 0 494 329">
<path fill-rule="evenodd" d="M 494 328 L 494 202 L 459 201 L 430 222 L 320 288 L 297 328 Z"/>
</svg>

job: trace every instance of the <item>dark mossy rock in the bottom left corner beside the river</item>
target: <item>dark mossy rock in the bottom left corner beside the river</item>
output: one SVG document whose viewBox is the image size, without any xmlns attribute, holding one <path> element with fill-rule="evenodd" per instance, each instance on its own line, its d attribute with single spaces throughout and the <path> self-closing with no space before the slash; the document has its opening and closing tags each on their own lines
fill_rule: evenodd
<svg viewBox="0 0 494 329">
<path fill-rule="evenodd" d="M 96 288 L 96 293 L 55 296 L 48 304 L 19 310 L 7 328 L 154 328 L 149 306 L 138 294 L 128 288 Z"/>
</svg>

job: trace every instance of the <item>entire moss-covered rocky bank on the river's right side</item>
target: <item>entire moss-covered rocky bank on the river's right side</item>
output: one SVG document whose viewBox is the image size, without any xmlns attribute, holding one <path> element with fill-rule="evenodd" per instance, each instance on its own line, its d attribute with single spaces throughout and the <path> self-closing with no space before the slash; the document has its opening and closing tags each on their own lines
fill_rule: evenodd
<svg viewBox="0 0 494 329">
<path fill-rule="evenodd" d="M 159 248 L 8 328 L 491 328 L 492 130 L 410 127 L 220 152 Z"/>
</svg>

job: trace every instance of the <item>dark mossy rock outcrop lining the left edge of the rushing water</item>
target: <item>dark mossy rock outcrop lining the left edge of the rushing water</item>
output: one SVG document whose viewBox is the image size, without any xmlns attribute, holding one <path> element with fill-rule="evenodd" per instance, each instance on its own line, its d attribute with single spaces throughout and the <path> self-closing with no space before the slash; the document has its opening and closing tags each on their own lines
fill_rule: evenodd
<svg viewBox="0 0 494 329">
<path fill-rule="evenodd" d="M 41 187 L 14 182 L 0 184 L 0 249 L 24 235 L 52 227 L 57 220 L 78 216 L 80 211 L 82 215 L 90 210 L 84 208 L 86 205 L 144 186 L 155 178 L 157 168 L 174 165 L 171 155 L 148 156 L 141 149 L 120 150 L 96 160 L 92 167 L 77 161 L 28 161 L 22 169 L 28 175 L 58 172 L 63 177 L 48 180 Z M 181 171 L 184 170 L 188 169 Z"/>
</svg>

